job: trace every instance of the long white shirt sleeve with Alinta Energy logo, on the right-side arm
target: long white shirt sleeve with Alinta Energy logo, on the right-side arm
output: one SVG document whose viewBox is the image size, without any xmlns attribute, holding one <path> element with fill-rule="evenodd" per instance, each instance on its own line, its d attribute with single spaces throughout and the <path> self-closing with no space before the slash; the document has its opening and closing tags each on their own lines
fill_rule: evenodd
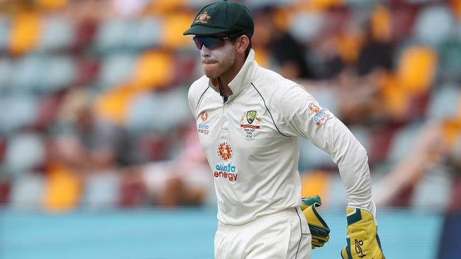
<svg viewBox="0 0 461 259">
<path fill-rule="evenodd" d="M 321 108 L 302 86 L 278 95 L 282 130 L 305 137 L 331 154 L 348 194 L 348 207 L 374 210 L 367 151 L 333 113 Z"/>
</svg>

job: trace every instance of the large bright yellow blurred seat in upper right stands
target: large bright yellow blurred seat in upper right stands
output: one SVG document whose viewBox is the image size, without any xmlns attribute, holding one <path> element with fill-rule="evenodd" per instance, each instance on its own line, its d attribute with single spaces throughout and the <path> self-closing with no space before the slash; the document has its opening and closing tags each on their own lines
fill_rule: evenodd
<svg viewBox="0 0 461 259">
<path fill-rule="evenodd" d="M 437 53 L 431 47 L 413 45 L 406 48 L 397 69 L 400 87 L 414 94 L 426 93 L 433 82 L 437 63 Z"/>
</svg>

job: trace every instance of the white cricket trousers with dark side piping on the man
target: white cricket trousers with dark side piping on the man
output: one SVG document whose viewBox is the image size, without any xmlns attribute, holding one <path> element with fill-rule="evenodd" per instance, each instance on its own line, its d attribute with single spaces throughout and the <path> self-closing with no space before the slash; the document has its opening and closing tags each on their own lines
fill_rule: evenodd
<svg viewBox="0 0 461 259">
<path fill-rule="evenodd" d="M 310 259 L 311 231 L 300 208 L 258 217 L 242 225 L 218 221 L 216 259 Z"/>
</svg>

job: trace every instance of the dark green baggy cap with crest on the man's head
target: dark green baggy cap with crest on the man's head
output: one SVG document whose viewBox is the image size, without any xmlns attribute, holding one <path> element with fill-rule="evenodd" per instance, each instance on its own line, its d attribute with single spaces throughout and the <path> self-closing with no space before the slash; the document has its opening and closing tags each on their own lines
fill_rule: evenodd
<svg viewBox="0 0 461 259">
<path fill-rule="evenodd" d="M 218 33 L 242 33 L 249 38 L 255 31 L 252 13 L 235 1 L 216 1 L 201 8 L 191 28 L 183 35 L 213 35 Z"/>
</svg>

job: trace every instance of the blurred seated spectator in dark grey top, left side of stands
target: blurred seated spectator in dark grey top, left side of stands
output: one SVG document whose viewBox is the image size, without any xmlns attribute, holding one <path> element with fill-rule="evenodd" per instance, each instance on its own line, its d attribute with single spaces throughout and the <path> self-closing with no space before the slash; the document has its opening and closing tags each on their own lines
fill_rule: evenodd
<svg viewBox="0 0 461 259">
<path fill-rule="evenodd" d="M 133 163 L 128 132 L 94 114 L 94 97 L 84 89 L 71 91 L 62 104 L 58 119 L 58 154 L 83 171 L 97 171 Z"/>
</svg>

